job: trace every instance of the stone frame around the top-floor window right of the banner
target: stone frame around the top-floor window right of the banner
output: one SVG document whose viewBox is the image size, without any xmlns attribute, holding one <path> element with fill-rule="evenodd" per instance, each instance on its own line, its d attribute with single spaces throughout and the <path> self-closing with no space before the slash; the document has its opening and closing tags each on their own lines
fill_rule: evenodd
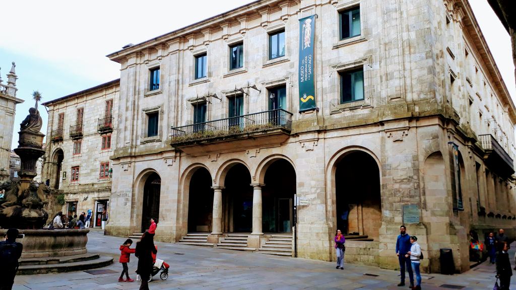
<svg viewBox="0 0 516 290">
<path fill-rule="evenodd" d="M 359 43 L 363 41 L 367 41 L 367 29 L 365 27 L 365 24 L 367 23 L 366 17 L 367 13 L 364 12 L 364 9 L 366 7 L 365 0 L 333 0 L 332 4 L 335 8 L 335 11 L 333 13 L 333 16 L 331 18 L 331 27 L 335 27 L 335 29 L 332 30 L 332 39 L 333 39 L 333 46 L 332 49 L 338 49 L 339 47 L 351 45 L 354 43 Z M 341 27 L 340 27 L 340 13 L 344 10 L 349 10 L 355 7 L 360 8 L 360 35 L 342 39 L 341 40 Z"/>
</svg>

